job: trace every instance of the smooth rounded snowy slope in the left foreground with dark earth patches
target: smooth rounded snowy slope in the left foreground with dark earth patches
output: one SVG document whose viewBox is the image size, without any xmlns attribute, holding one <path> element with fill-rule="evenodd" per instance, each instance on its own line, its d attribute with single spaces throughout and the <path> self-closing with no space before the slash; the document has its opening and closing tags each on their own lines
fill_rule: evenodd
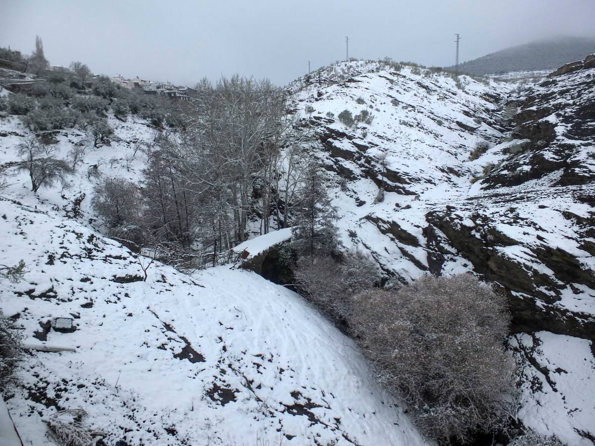
<svg viewBox="0 0 595 446">
<path fill-rule="evenodd" d="M 228 267 L 193 277 L 155 265 L 58 213 L 2 200 L 1 308 L 31 351 L 7 401 L 25 444 L 42 419 L 84 407 L 108 444 L 424 444 L 352 341 L 297 294 Z M 76 331 L 49 327 L 74 318 Z"/>
</svg>

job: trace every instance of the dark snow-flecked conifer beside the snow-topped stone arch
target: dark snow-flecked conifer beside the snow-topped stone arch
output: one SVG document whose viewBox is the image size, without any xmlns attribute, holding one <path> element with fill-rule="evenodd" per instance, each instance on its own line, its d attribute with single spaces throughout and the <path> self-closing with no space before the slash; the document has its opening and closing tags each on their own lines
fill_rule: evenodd
<svg viewBox="0 0 595 446">
<path fill-rule="evenodd" d="M 306 167 L 303 188 L 300 190 L 293 223 L 293 247 L 302 256 L 324 255 L 337 245 L 339 218 L 324 186 L 320 165 Z"/>
</svg>

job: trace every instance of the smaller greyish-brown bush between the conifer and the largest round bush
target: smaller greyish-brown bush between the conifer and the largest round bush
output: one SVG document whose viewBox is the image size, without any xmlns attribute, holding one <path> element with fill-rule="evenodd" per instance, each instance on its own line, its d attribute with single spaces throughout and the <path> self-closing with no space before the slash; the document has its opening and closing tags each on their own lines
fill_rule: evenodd
<svg viewBox="0 0 595 446">
<path fill-rule="evenodd" d="M 302 257 L 295 265 L 294 276 L 300 292 L 340 323 L 352 315 L 352 297 L 380 279 L 374 261 L 359 250 L 347 252 L 341 260 Z"/>
</svg>

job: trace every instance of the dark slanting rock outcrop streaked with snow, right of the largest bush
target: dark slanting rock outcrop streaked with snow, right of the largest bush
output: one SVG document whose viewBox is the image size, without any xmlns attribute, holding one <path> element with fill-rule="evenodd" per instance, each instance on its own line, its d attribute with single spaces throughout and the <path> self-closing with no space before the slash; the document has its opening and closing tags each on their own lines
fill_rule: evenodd
<svg viewBox="0 0 595 446">
<path fill-rule="evenodd" d="M 513 332 L 547 329 L 595 340 L 595 269 L 585 261 L 591 247 L 583 243 L 595 227 L 595 213 L 584 206 L 587 196 L 595 199 L 590 188 L 556 188 L 478 196 L 432 211 L 426 216 L 428 258 L 440 272 L 449 252 L 444 246 L 449 246 L 477 274 L 501 285 L 509 297 Z M 540 199 L 555 204 L 538 205 Z M 584 216 L 568 215 L 566 209 L 572 208 L 583 209 Z M 549 234 L 564 224 L 574 231 L 553 240 Z"/>
</svg>

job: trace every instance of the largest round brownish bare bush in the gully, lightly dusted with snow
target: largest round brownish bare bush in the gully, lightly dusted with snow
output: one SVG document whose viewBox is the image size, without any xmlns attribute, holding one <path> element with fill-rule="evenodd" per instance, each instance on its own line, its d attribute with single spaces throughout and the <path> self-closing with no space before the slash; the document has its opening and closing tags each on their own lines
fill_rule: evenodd
<svg viewBox="0 0 595 446">
<path fill-rule="evenodd" d="M 502 426 L 513 391 L 504 296 L 463 274 L 369 290 L 353 305 L 352 329 L 378 379 L 425 434 L 465 441 Z"/>
</svg>

